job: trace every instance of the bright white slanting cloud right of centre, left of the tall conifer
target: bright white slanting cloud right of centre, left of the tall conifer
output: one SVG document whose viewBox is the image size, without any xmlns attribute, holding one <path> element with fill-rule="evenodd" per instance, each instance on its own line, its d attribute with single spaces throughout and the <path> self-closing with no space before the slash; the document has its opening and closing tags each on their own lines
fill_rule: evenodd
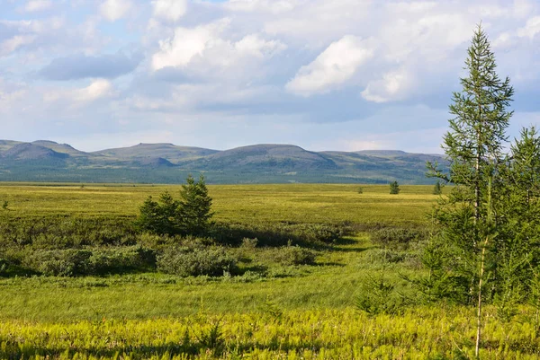
<svg viewBox="0 0 540 360">
<path fill-rule="evenodd" d="M 329 92 L 351 79 L 373 55 L 368 41 L 346 35 L 330 44 L 310 65 L 302 66 L 286 89 L 303 96 Z"/>
</svg>

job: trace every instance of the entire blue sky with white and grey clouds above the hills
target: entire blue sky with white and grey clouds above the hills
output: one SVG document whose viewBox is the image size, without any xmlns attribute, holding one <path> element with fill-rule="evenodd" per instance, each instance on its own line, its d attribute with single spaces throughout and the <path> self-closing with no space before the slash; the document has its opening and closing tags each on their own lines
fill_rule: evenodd
<svg viewBox="0 0 540 360">
<path fill-rule="evenodd" d="M 482 22 L 540 125 L 540 0 L 0 0 L 0 138 L 442 153 Z"/>
</svg>

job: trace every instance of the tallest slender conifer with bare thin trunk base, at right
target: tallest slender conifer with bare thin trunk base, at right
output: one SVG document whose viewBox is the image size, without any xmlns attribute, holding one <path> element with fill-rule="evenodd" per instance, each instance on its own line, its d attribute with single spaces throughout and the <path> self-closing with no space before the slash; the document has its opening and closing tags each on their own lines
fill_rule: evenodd
<svg viewBox="0 0 540 360">
<path fill-rule="evenodd" d="M 455 92 L 449 120 L 450 130 L 443 139 L 443 149 L 450 162 L 449 173 L 428 163 L 428 176 L 445 180 L 455 187 L 441 201 L 437 217 L 441 236 L 451 244 L 455 259 L 447 267 L 461 279 L 464 298 L 477 306 L 476 356 L 482 329 L 482 293 L 489 280 L 497 253 L 497 219 L 493 209 L 498 198 L 500 168 L 504 163 L 505 134 L 512 111 L 508 110 L 513 88 L 509 78 L 496 73 L 495 56 L 487 35 L 478 26 L 467 51 L 461 79 L 462 91 Z"/>
</svg>

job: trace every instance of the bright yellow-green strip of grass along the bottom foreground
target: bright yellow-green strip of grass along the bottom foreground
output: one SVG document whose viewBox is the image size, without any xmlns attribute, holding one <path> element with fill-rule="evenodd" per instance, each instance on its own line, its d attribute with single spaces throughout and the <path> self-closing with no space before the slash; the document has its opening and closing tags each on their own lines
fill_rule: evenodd
<svg viewBox="0 0 540 360">
<path fill-rule="evenodd" d="M 480 358 L 537 359 L 528 323 L 488 321 Z M 523 312 L 521 316 L 530 316 Z M 257 312 L 71 324 L 7 321 L 0 356 L 29 359 L 462 359 L 473 358 L 473 310 L 415 308 L 370 318 L 353 309 Z M 216 327 L 217 324 L 217 327 Z M 211 329 L 217 329 L 211 337 Z M 91 357 L 92 356 L 92 357 Z"/>
</svg>

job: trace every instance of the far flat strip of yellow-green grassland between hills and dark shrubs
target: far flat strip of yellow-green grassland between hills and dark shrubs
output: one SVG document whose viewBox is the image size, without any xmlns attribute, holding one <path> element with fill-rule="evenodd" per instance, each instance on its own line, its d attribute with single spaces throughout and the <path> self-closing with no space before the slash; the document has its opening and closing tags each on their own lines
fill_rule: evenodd
<svg viewBox="0 0 540 360">
<path fill-rule="evenodd" d="M 216 185 L 209 186 L 215 219 L 224 222 L 338 224 L 422 224 L 437 200 L 431 186 L 401 186 L 390 195 L 384 185 Z M 136 216 L 148 196 L 178 186 L 0 185 L 9 215 Z M 2 211 L 0 210 L 0 213 Z M 5 214 L 5 213 L 4 213 Z"/>
</svg>

